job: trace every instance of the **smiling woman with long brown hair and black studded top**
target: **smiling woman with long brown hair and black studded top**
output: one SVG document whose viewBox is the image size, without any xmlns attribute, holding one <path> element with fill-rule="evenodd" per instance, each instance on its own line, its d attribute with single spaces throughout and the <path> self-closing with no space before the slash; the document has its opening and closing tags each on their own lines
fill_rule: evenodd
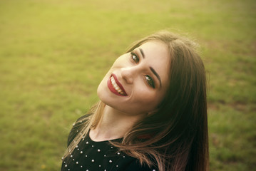
<svg viewBox="0 0 256 171">
<path fill-rule="evenodd" d="M 208 170 L 205 68 L 195 43 L 168 31 L 113 63 L 97 103 L 68 136 L 61 170 Z"/>
</svg>

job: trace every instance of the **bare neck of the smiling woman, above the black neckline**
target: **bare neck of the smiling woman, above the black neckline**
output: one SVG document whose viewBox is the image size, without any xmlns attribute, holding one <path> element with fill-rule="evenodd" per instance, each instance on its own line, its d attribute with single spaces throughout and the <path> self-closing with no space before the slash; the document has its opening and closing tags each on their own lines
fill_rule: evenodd
<svg viewBox="0 0 256 171">
<path fill-rule="evenodd" d="M 90 130 L 90 138 L 93 141 L 114 140 L 123 138 L 133 127 L 135 122 L 145 117 L 145 115 L 128 115 L 121 113 L 106 105 L 103 110 L 103 117 L 95 129 Z"/>
</svg>

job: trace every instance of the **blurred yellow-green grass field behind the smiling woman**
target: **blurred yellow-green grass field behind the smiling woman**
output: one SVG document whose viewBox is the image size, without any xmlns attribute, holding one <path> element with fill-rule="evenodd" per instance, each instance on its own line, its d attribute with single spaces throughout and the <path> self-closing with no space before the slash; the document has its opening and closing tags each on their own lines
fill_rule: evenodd
<svg viewBox="0 0 256 171">
<path fill-rule="evenodd" d="M 59 170 L 113 61 L 155 31 L 193 36 L 209 80 L 210 170 L 256 168 L 254 0 L 1 0 L 0 170 Z"/>
</svg>

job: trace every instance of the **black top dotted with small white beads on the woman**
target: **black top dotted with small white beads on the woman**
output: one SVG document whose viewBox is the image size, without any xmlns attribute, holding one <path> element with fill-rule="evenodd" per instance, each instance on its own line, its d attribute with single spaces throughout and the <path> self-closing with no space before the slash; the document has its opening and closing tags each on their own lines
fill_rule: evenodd
<svg viewBox="0 0 256 171">
<path fill-rule="evenodd" d="M 78 123 L 79 120 L 81 118 Z M 68 136 L 68 145 L 76 137 L 78 130 L 78 125 L 73 125 Z M 121 140 L 122 138 L 111 141 Z M 121 152 L 108 140 L 95 142 L 89 135 L 83 137 L 75 150 L 62 160 L 61 171 L 157 171 L 156 168 L 140 165 L 138 159 Z"/>
</svg>

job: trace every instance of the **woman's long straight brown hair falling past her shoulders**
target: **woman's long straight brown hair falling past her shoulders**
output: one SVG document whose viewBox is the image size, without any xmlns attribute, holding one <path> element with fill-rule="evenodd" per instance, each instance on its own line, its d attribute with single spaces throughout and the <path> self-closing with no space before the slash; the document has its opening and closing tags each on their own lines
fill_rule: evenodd
<svg viewBox="0 0 256 171">
<path fill-rule="evenodd" d="M 148 41 L 162 41 L 170 51 L 170 82 L 165 98 L 155 113 L 139 120 L 113 145 L 140 163 L 157 165 L 160 171 L 208 170 L 208 117 L 206 78 L 196 44 L 177 34 L 160 31 L 137 41 L 128 53 Z M 86 118 L 65 156 L 83 135 L 101 120 L 104 104 L 99 102 Z M 146 135 L 146 136 L 145 136 Z"/>
</svg>

